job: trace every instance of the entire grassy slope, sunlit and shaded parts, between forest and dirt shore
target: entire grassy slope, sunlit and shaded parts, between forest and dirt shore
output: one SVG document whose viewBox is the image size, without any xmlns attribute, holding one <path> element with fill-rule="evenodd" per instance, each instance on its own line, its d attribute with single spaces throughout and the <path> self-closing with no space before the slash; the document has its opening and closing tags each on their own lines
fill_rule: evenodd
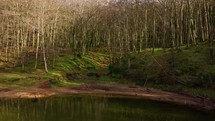
<svg viewBox="0 0 215 121">
<path fill-rule="evenodd" d="M 26 66 L 28 71 L 22 71 L 21 67 L 0 66 L 0 87 L 36 88 L 37 83 L 46 81 L 52 87 L 78 85 L 88 81 L 136 83 L 215 99 L 215 65 L 211 63 L 206 44 L 198 48 L 183 48 L 181 52 L 175 52 L 174 59 L 169 49 L 163 54 L 162 49 L 157 48 L 154 54 L 147 51 L 131 55 L 130 70 L 126 69 L 126 61 L 112 65 L 109 68 L 112 72 L 110 77 L 107 75 L 108 54 L 89 52 L 78 57 L 66 53 L 58 58 L 54 68 L 49 68 L 49 73 L 43 69 L 30 69 L 33 68 L 31 64 Z M 72 81 L 68 80 L 66 73 L 76 77 Z M 96 73 L 101 77 L 88 77 L 87 73 Z M 197 87 L 192 87 L 194 84 Z"/>
</svg>

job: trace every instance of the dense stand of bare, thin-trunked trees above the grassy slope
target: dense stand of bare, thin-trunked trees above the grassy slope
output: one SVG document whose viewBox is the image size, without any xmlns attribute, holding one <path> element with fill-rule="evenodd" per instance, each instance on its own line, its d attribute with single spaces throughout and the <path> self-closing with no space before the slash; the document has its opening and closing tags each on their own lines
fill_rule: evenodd
<svg viewBox="0 0 215 121">
<path fill-rule="evenodd" d="M 69 3 L 1 0 L 1 62 L 34 57 L 48 72 L 64 50 L 85 55 L 104 48 L 112 61 L 148 48 L 181 50 L 208 42 L 213 59 L 213 0 L 148 0 Z M 43 58 L 43 60 L 40 60 Z"/>
</svg>

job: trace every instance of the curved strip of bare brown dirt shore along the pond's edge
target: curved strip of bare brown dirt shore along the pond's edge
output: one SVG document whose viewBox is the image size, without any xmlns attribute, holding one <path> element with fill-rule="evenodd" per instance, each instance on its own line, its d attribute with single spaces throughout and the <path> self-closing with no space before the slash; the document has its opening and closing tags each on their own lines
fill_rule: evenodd
<svg viewBox="0 0 215 121">
<path fill-rule="evenodd" d="M 171 102 L 187 105 L 203 110 L 215 110 L 215 101 L 200 97 L 193 97 L 173 92 L 162 91 L 154 88 L 142 88 L 120 84 L 88 83 L 76 87 L 64 87 L 58 89 L 1 89 L 0 98 L 44 98 L 56 95 L 71 94 L 102 94 L 112 96 L 129 96 L 150 100 Z"/>
</svg>

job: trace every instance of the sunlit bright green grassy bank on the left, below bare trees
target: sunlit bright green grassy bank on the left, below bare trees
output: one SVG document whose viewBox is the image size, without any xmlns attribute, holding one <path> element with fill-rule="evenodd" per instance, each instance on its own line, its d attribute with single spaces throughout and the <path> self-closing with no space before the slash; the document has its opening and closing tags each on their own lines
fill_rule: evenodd
<svg viewBox="0 0 215 121">
<path fill-rule="evenodd" d="M 58 58 L 54 67 L 50 67 L 49 73 L 43 69 L 32 69 L 33 65 L 26 65 L 25 71 L 21 67 L 1 66 L 0 87 L 10 88 L 35 88 L 37 83 L 49 81 L 52 87 L 77 85 L 84 80 L 75 79 L 69 81 L 66 73 L 89 73 L 106 68 L 109 63 L 108 55 L 89 52 L 87 55 L 78 57 L 71 54 L 64 54 Z M 80 78 L 85 76 L 80 74 Z"/>
</svg>

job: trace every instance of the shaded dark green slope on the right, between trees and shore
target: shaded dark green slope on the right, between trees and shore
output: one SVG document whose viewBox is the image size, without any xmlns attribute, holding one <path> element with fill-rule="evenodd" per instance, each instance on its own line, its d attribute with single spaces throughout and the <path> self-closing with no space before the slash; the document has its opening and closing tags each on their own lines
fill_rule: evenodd
<svg viewBox="0 0 215 121">
<path fill-rule="evenodd" d="M 146 87 L 215 99 L 215 60 L 209 57 L 208 50 L 207 44 L 202 43 L 189 49 L 183 47 L 181 52 L 174 52 L 174 56 L 170 49 L 163 54 L 159 48 L 154 54 L 150 51 L 133 54 L 131 68 L 119 74 Z M 119 65 L 113 65 L 113 73 L 124 72 L 126 61 Z"/>
</svg>

